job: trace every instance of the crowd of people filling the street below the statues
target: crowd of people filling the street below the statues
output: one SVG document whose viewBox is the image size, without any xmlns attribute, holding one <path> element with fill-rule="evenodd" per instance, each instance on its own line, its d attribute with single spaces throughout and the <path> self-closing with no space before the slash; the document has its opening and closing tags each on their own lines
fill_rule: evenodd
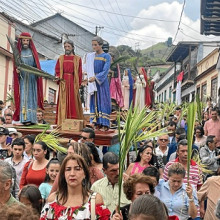
<svg viewBox="0 0 220 220">
<path fill-rule="evenodd" d="M 70 140 L 64 154 L 4 123 L 0 219 L 219 219 L 219 109 L 205 109 L 195 123 L 189 171 L 186 119 L 176 107 L 164 123 L 167 134 L 138 143 L 124 170 L 120 207 L 119 155 L 95 146 L 93 128 Z"/>
</svg>

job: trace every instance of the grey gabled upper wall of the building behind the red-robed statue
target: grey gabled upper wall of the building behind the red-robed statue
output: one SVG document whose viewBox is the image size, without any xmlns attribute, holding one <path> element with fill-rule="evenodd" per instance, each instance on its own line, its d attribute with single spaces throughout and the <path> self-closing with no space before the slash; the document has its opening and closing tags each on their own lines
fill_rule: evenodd
<svg viewBox="0 0 220 220">
<path fill-rule="evenodd" d="M 31 26 L 56 38 L 61 39 L 62 36 L 65 36 L 73 40 L 75 44 L 75 53 L 80 56 L 92 51 L 91 41 L 95 34 L 59 13 L 33 23 Z"/>
</svg>

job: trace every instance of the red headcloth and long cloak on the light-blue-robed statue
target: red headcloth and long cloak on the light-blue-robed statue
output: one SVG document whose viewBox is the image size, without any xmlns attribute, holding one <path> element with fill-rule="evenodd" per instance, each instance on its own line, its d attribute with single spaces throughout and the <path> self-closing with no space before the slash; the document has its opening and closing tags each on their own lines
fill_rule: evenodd
<svg viewBox="0 0 220 220">
<path fill-rule="evenodd" d="M 40 67 L 40 62 L 39 62 L 39 58 L 38 58 L 38 54 L 37 54 L 37 50 L 34 46 L 34 43 L 31 39 L 31 35 L 29 33 L 21 33 L 19 39 L 18 39 L 18 43 L 17 43 L 17 48 L 19 53 L 21 53 L 21 49 L 22 49 L 22 38 L 30 38 L 30 49 L 32 50 L 33 56 L 34 56 L 34 60 L 36 63 L 36 66 L 38 69 L 41 69 Z M 14 70 L 13 70 L 13 75 L 14 75 L 14 101 L 15 101 L 15 113 L 13 115 L 13 120 L 15 121 L 19 121 L 20 120 L 20 85 L 19 85 L 19 77 L 18 77 L 18 73 L 16 72 L 16 66 L 14 63 Z M 39 108 L 44 109 L 43 107 L 43 81 L 42 78 L 39 77 L 37 80 L 37 104 L 39 106 Z"/>
</svg>

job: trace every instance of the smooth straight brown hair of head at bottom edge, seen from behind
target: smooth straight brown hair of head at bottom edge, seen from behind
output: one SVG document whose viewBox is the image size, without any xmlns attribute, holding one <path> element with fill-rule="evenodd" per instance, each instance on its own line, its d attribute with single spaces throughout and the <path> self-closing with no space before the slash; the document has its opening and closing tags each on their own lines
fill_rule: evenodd
<svg viewBox="0 0 220 220">
<path fill-rule="evenodd" d="M 168 215 L 163 202 L 153 195 L 139 196 L 131 204 L 129 219 L 134 220 L 138 216 L 148 220 L 167 220 Z"/>
</svg>

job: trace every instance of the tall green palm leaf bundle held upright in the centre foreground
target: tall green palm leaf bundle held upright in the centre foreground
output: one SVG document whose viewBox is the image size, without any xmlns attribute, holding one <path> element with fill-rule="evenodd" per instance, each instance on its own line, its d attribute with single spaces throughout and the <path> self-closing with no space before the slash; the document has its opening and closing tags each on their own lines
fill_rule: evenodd
<svg viewBox="0 0 220 220">
<path fill-rule="evenodd" d="M 147 108 L 143 108 L 139 111 L 137 108 L 134 108 L 132 111 L 132 105 L 128 112 L 124 115 L 121 115 L 123 124 L 120 123 L 120 114 L 118 114 L 118 135 L 120 143 L 119 151 L 119 199 L 118 199 L 118 208 L 120 208 L 121 201 L 121 191 L 122 191 L 122 179 L 123 172 L 125 168 L 125 162 L 127 154 L 132 145 L 135 146 L 135 143 L 158 137 L 163 132 L 162 129 L 156 130 L 158 124 L 156 122 L 157 112 L 151 111 L 147 114 Z"/>
</svg>

